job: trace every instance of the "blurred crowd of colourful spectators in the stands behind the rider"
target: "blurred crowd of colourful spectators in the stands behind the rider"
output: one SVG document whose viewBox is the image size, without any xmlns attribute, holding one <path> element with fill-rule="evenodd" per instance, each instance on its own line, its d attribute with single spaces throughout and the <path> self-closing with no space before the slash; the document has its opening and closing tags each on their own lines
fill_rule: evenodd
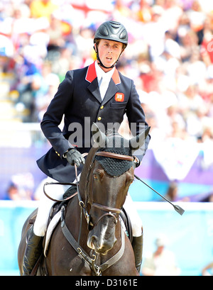
<svg viewBox="0 0 213 290">
<path fill-rule="evenodd" d="M 95 60 L 95 30 L 110 19 L 129 32 L 117 68 L 136 84 L 151 126 L 149 148 L 168 179 L 184 179 L 200 152 L 202 168 L 211 167 L 213 2 L 207 0 L 1 0 L 1 147 L 10 147 L 9 126 L 31 130 L 40 123 L 67 70 Z M 26 135 L 16 141 L 13 135 L 11 146 L 27 143 Z M 179 172 L 174 156 L 176 169 L 185 164 Z M 31 183 L 29 176 L 16 178 Z"/>
</svg>

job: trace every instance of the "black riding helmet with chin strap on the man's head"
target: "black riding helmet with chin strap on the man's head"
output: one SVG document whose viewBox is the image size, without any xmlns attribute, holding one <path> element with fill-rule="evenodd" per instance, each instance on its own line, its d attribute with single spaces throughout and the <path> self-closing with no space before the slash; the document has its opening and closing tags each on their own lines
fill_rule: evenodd
<svg viewBox="0 0 213 290">
<path fill-rule="evenodd" d="M 114 40 L 119 43 L 123 43 L 124 49 L 128 45 L 128 33 L 126 31 L 126 28 L 123 26 L 123 24 L 116 21 L 106 21 L 102 23 L 102 25 L 99 26 L 99 28 L 97 28 L 97 31 L 94 35 L 94 43 L 97 44 L 98 39 Z M 122 52 L 124 51 L 124 49 L 122 50 Z M 112 65 L 111 67 L 105 67 L 99 58 L 98 48 L 97 48 L 96 53 L 97 53 L 97 60 L 99 61 L 99 65 L 101 65 L 102 67 L 106 69 L 114 67 L 116 63 L 119 61 L 119 58 L 118 58 L 118 60 L 116 60 L 114 65 Z M 120 56 L 121 55 L 119 55 L 119 57 Z"/>
</svg>

